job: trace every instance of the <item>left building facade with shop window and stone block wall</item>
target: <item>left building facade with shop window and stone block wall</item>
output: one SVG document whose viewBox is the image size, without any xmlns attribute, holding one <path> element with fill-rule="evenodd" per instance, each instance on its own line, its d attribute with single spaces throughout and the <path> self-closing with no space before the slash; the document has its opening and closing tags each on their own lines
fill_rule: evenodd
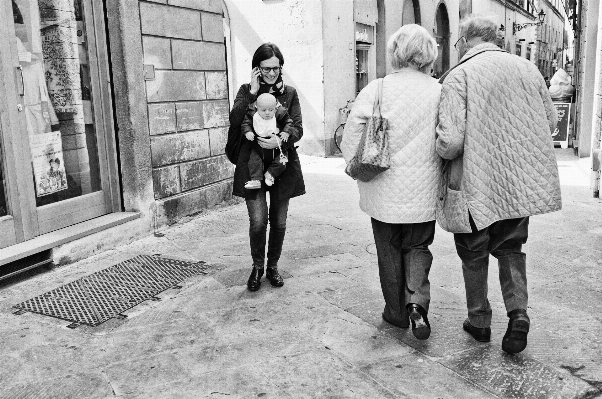
<svg viewBox="0 0 602 399">
<path fill-rule="evenodd" d="M 5 265 L 73 261 L 232 198 L 222 0 L 12 0 L 12 12 L 10 1 L 0 8 L 0 277 Z M 34 107 L 60 109 L 43 77 L 38 89 L 24 73 L 55 57 L 39 44 L 51 18 L 73 35 L 53 62 L 81 71 L 69 80 L 79 114 L 67 116 L 82 137 L 66 134 L 60 114 L 47 133 L 32 130 L 19 143 Z M 24 97 L 31 87 L 45 96 L 41 105 Z M 34 146 L 42 138 L 55 140 L 48 176 L 67 176 L 45 197 L 31 179 L 36 157 L 50 159 Z M 80 148 L 79 165 L 53 172 L 55 156 L 61 164 L 71 148 Z M 77 167 L 89 187 L 74 184 Z"/>
</svg>

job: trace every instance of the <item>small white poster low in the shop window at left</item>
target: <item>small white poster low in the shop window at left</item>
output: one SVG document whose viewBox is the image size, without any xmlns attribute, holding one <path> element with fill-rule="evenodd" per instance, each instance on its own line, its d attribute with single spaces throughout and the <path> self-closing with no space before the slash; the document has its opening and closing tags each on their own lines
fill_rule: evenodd
<svg viewBox="0 0 602 399">
<path fill-rule="evenodd" d="M 66 190 L 67 175 L 65 174 L 61 133 L 33 134 L 29 136 L 29 140 L 36 195 L 42 197 Z"/>
</svg>

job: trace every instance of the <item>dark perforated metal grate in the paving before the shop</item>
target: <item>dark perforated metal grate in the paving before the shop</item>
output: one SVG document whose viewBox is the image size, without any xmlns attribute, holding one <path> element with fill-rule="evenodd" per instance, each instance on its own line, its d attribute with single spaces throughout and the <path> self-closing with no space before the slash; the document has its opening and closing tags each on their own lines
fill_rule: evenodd
<svg viewBox="0 0 602 399">
<path fill-rule="evenodd" d="M 97 326 L 189 277 L 205 274 L 206 268 L 205 262 L 139 255 L 14 307 L 17 312 Z"/>
</svg>

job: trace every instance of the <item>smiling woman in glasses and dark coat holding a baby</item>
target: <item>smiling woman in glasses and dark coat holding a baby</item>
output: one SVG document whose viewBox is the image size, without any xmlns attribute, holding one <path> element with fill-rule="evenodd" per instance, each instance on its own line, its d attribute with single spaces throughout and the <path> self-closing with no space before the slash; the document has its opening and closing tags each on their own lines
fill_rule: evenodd
<svg viewBox="0 0 602 399">
<path fill-rule="evenodd" d="M 259 46 L 251 62 L 251 82 L 240 87 L 230 111 L 231 127 L 240 128 L 240 134 L 245 136 L 234 171 L 232 193 L 245 199 L 249 212 L 253 259 L 247 282 L 250 291 L 261 287 L 265 266 L 270 284 L 275 287 L 284 284 L 278 273 L 278 260 L 286 232 L 288 204 L 291 198 L 305 194 L 295 148 L 303 136 L 301 106 L 295 88 L 282 81 L 283 64 L 284 57 L 275 44 Z"/>
</svg>

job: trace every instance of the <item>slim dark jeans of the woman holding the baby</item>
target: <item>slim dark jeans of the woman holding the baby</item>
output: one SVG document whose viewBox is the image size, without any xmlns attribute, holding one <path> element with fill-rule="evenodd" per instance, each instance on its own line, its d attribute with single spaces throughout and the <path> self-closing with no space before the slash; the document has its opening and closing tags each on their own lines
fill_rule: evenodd
<svg viewBox="0 0 602 399">
<path fill-rule="evenodd" d="M 253 266 L 263 268 L 265 263 L 265 240 L 270 222 L 270 236 L 268 240 L 268 262 L 270 268 L 278 267 L 278 260 L 282 253 L 282 243 L 286 233 L 286 215 L 288 213 L 289 199 L 274 201 L 270 197 L 270 209 L 266 200 L 265 187 L 257 190 L 254 199 L 247 199 L 249 211 L 249 238 L 251 243 L 251 257 Z"/>
</svg>

